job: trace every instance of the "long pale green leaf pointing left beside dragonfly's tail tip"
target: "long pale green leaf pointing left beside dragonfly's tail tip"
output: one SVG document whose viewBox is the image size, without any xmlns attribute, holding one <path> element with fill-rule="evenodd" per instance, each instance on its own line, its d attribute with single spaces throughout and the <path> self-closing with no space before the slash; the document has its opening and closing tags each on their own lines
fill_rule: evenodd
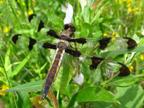
<svg viewBox="0 0 144 108">
<path fill-rule="evenodd" d="M 37 91 L 42 90 L 43 83 L 44 83 L 43 80 L 29 82 L 26 84 L 21 84 L 21 85 L 12 87 L 12 88 L 8 89 L 7 92 L 16 92 L 16 91 L 37 92 Z"/>
</svg>

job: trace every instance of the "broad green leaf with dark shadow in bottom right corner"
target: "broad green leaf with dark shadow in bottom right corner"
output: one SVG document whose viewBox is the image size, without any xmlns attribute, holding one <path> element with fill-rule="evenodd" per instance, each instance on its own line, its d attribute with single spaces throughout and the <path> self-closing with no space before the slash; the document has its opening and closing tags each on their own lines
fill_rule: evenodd
<svg viewBox="0 0 144 108">
<path fill-rule="evenodd" d="M 139 85 L 117 87 L 116 97 L 121 103 L 119 108 L 141 108 L 144 101 L 144 91 Z"/>
</svg>

